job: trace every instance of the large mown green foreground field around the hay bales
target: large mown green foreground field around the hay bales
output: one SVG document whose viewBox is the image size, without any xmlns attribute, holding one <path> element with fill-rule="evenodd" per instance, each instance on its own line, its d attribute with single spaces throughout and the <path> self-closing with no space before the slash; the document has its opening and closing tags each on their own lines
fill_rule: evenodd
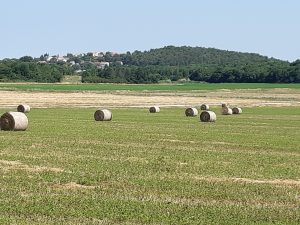
<svg viewBox="0 0 300 225">
<path fill-rule="evenodd" d="M 0 131 L 0 224 L 299 224 L 300 108 L 214 110 L 33 109 Z"/>
</svg>

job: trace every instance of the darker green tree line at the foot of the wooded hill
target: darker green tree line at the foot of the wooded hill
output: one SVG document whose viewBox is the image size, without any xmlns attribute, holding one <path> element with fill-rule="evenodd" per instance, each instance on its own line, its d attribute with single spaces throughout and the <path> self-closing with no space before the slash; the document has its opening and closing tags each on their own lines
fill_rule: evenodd
<svg viewBox="0 0 300 225">
<path fill-rule="evenodd" d="M 299 83 L 300 60 L 289 64 L 261 62 L 252 64 L 191 66 L 114 66 L 85 71 L 88 83 L 158 83 L 191 80 L 209 83 Z"/>
</svg>

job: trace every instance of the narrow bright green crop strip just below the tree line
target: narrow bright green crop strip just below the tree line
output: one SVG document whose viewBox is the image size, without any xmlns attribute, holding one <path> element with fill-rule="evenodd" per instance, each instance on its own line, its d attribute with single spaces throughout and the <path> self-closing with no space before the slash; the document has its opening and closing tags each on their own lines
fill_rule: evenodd
<svg viewBox="0 0 300 225">
<path fill-rule="evenodd" d="M 182 84 L 39 84 L 39 83 L 0 83 L 1 89 L 41 90 L 41 91 L 192 91 L 218 89 L 300 89 L 300 84 L 253 84 L 253 83 L 182 83 Z"/>
</svg>

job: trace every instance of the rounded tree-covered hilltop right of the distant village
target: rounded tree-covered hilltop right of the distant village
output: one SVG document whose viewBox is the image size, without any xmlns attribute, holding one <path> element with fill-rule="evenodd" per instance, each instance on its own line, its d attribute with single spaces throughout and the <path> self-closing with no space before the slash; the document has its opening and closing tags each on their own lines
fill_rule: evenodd
<svg viewBox="0 0 300 225">
<path fill-rule="evenodd" d="M 187 66 L 191 64 L 255 63 L 274 61 L 275 59 L 268 59 L 268 57 L 254 53 L 241 53 L 215 48 L 167 46 L 144 52 L 135 51 L 132 54 L 123 55 L 122 60 L 128 65 L 135 66 Z"/>
</svg>

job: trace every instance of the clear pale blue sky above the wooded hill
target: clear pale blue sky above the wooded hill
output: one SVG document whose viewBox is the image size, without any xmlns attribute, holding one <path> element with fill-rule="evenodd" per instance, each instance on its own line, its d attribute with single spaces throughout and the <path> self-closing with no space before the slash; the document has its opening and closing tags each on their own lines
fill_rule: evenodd
<svg viewBox="0 0 300 225">
<path fill-rule="evenodd" d="M 0 58 L 166 45 L 300 58 L 299 0 L 0 0 Z"/>
</svg>

